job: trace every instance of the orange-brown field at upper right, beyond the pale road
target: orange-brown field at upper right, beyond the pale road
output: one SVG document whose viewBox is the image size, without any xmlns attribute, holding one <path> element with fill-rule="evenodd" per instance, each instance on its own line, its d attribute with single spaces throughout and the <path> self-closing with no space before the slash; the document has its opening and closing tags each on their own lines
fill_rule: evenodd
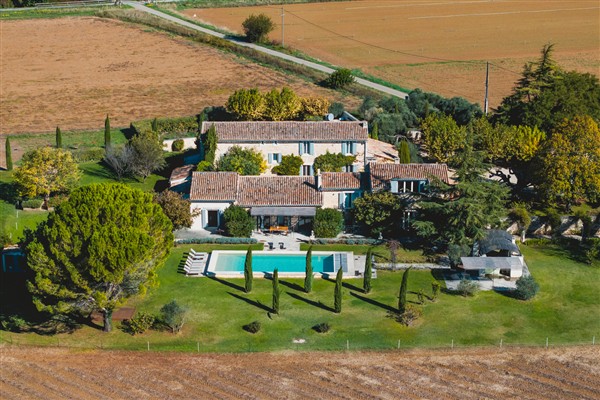
<svg viewBox="0 0 600 400">
<path fill-rule="evenodd" d="M 544 44 L 568 70 L 600 74 L 597 0 L 356 0 L 284 7 L 285 45 L 333 65 L 405 88 L 483 103 L 485 62 L 490 105 L 514 86 Z M 250 14 L 269 15 L 281 41 L 281 7 L 190 9 L 185 14 L 241 32 Z M 194 17 L 195 16 L 195 17 Z"/>
</svg>

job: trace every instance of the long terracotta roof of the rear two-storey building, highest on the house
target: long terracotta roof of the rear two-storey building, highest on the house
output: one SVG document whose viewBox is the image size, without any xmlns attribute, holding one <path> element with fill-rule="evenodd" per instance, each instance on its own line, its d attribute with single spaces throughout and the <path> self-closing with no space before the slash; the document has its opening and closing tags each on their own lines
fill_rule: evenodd
<svg viewBox="0 0 600 400">
<path fill-rule="evenodd" d="M 219 142 L 341 142 L 366 141 L 367 122 L 359 121 L 252 121 L 202 123 L 202 132 L 215 125 Z"/>
</svg>

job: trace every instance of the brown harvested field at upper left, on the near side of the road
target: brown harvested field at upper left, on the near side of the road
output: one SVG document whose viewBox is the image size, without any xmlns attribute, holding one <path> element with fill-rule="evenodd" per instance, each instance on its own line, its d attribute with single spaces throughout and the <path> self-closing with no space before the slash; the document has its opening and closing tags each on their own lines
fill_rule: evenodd
<svg viewBox="0 0 600 400">
<path fill-rule="evenodd" d="M 0 133 L 102 129 L 223 105 L 234 90 L 339 94 L 206 45 L 101 18 L 2 21 Z"/>
</svg>

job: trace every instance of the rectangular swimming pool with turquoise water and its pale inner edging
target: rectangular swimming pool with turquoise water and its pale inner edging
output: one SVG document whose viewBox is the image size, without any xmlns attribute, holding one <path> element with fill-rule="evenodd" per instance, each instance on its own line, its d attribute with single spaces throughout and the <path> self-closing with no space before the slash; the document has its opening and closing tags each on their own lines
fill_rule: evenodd
<svg viewBox="0 0 600 400">
<path fill-rule="evenodd" d="M 206 267 L 207 275 L 243 275 L 245 251 L 213 251 Z M 354 257 L 351 252 L 312 253 L 312 268 L 315 274 L 330 275 L 342 268 L 344 275 L 354 274 Z M 254 251 L 252 271 L 254 274 L 271 274 L 277 268 L 282 276 L 304 276 L 306 252 Z"/>
</svg>

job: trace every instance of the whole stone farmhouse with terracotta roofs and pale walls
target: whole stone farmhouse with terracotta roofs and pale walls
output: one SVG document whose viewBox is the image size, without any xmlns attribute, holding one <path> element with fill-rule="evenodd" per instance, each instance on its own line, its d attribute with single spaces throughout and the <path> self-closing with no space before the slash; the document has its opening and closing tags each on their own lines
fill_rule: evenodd
<svg viewBox="0 0 600 400">
<path fill-rule="evenodd" d="M 189 194 L 197 215 L 192 230 L 216 231 L 224 210 L 236 204 L 256 218 L 257 230 L 310 232 L 317 208 L 345 212 L 364 192 L 379 190 L 410 201 L 425 193 L 432 179 L 449 183 L 445 164 L 399 164 L 394 146 L 368 138 L 364 121 L 204 122 L 203 132 L 213 124 L 218 138 L 215 158 L 235 145 L 253 147 L 267 160 L 268 170 L 261 176 L 240 176 L 194 172 L 194 166 L 175 169 L 171 187 Z M 356 161 L 344 172 L 315 171 L 314 159 L 326 152 L 352 154 Z M 300 175 L 273 175 L 271 168 L 287 154 L 302 157 Z"/>
</svg>

